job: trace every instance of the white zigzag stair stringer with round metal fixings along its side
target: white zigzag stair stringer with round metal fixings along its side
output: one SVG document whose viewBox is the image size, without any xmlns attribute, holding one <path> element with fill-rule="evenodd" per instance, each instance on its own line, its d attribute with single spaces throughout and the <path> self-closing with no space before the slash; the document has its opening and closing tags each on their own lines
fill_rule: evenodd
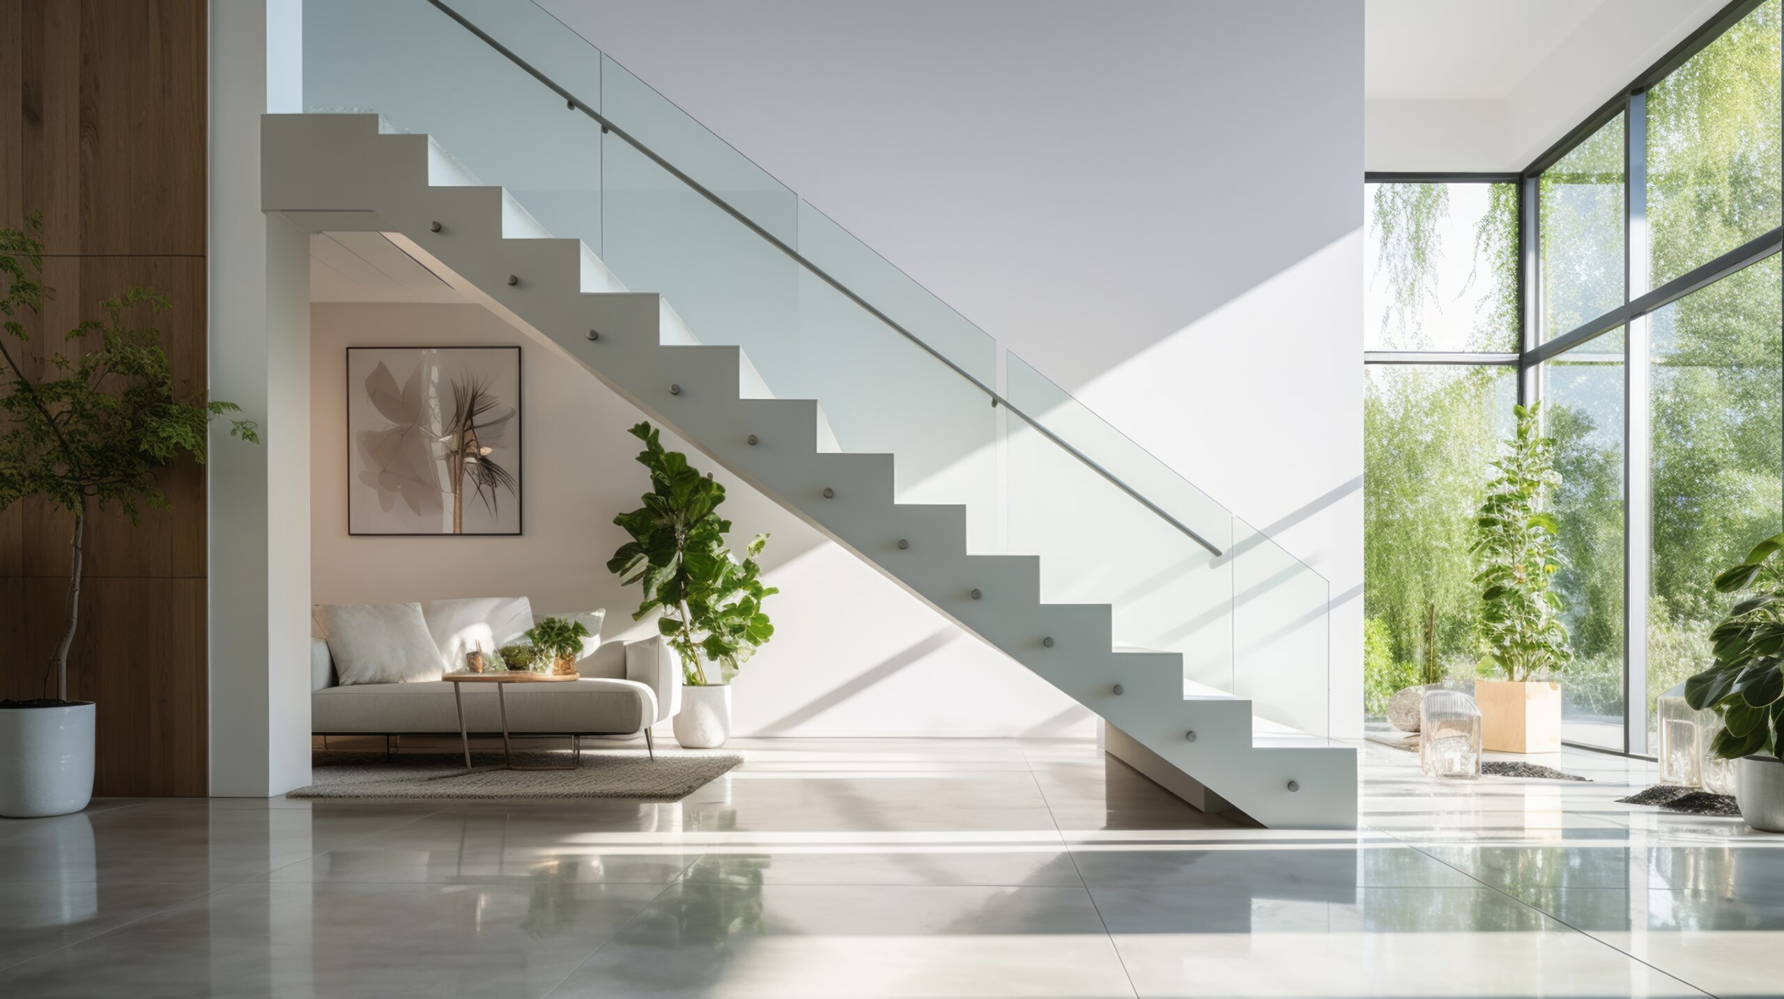
<svg viewBox="0 0 1784 999">
<path fill-rule="evenodd" d="M 771 398 L 740 348 L 665 337 L 678 319 L 657 294 L 615 291 L 587 246 L 546 235 L 500 187 L 430 184 L 450 157 L 426 136 L 380 134 L 371 114 L 269 114 L 260 157 L 264 211 L 310 232 L 414 243 L 491 309 L 1215 799 L 1272 828 L 1356 826 L 1354 747 L 1260 739 L 1251 701 L 1185 692 L 1179 655 L 1115 649 L 1108 605 L 1040 603 L 1038 558 L 970 555 L 965 507 L 894 501 L 894 457 L 840 451 L 819 403 Z"/>
</svg>

